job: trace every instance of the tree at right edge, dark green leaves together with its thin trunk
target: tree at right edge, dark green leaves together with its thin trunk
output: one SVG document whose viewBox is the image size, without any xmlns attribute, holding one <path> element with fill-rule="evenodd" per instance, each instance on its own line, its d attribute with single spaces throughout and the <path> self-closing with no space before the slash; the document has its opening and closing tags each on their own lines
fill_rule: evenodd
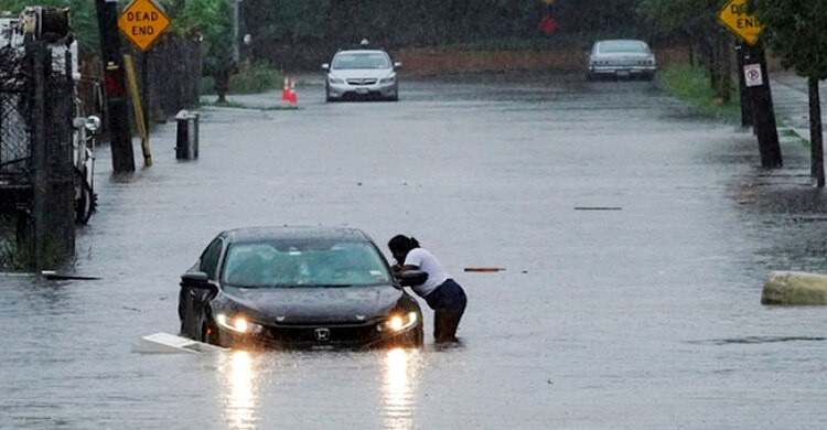
<svg viewBox="0 0 827 430">
<path fill-rule="evenodd" d="M 809 85 L 810 174 L 825 186 L 821 104 L 818 82 L 827 78 L 827 8 L 820 1 L 748 0 L 748 12 L 763 25 L 761 41 L 785 68 Z"/>
</svg>

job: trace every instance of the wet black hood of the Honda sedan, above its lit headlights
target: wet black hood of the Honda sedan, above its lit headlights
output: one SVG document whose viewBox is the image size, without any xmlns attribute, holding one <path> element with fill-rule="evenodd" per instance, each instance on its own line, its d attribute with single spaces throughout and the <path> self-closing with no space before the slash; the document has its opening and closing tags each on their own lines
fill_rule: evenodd
<svg viewBox="0 0 827 430">
<path fill-rule="evenodd" d="M 404 292 L 390 286 L 226 288 L 232 308 L 272 323 L 361 322 L 386 315 Z"/>
</svg>

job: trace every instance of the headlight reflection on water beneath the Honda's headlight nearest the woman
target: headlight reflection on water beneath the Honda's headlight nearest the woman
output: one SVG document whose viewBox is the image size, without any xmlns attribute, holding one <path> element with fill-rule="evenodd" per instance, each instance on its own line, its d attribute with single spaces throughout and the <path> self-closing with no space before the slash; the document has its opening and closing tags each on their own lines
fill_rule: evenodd
<svg viewBox="0 0 827 430">
<path fill-rule="evenodd" d="M 386 429 L 412 429 L 415 388 L 419 350 L 394 348 L 385 352 L 383 406 Z"/>
</svg>

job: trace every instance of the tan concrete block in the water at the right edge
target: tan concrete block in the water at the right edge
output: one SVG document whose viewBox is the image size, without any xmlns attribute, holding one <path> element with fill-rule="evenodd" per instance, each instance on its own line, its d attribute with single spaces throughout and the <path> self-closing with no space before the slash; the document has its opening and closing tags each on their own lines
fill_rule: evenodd
<svg viewBox="0 0 827 430">
<path fill-rule="evenodd" d="M 827 275 L 773 271 L 764 283 L 761 304 L 827 304 Z"/>
</svg>

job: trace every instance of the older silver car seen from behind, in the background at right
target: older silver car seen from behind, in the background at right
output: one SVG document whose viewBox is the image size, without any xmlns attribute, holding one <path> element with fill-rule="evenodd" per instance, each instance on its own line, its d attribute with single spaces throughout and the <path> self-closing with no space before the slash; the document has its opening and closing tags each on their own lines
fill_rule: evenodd
<svg viewBox="0 0 827 430">
<path fill-rule="evenodd" d="M 657 71 L 655 54 L 637 40 L 615 39 L 595 42 L 589 52 L 587 78 L 641 77 L 652 80 Z"/>
</svg>

